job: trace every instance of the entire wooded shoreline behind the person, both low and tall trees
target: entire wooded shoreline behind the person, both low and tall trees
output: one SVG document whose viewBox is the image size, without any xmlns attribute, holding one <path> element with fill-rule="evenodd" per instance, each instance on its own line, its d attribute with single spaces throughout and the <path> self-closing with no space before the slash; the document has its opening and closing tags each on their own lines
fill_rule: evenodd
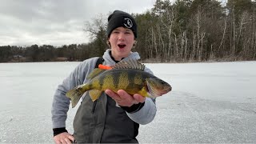
<svg viewBox="0 0 256 144">
<path fill-rule="evenodd" d="M 152 9 L 133 15 L 138 23 L 133 51 L 144 62 L 256 59 L 255 1 L 156 0 Z M 108 47 L 106 17 L 86 22 L 84 30 L 91 34 L 86 44 L 0 46 L 0 62 L 82 61 L 102 56 Z"/>
</svg>

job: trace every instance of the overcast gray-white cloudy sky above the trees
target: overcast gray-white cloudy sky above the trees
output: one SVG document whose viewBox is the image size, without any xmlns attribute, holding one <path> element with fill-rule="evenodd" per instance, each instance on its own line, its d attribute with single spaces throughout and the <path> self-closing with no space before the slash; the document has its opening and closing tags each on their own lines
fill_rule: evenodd
<svg viewBox="0 0 256 144">
<path fill-rule="evenodd" d="M 0 46 L 86 43 L 86 21 L 110 11 L 141 14 L 155 0 L 0 0 Z"/>
</svg>

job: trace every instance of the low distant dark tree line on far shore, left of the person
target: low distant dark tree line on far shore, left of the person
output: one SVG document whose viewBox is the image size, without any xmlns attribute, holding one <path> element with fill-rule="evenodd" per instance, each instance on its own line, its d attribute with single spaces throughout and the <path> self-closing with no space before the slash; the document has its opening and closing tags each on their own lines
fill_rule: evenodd
<svg viewBox="0 0 256 144">
<path fill-rule="evenodd" d="M 98 50 L 94 50 L 94 46 L 91 45 L 0 46 L 0 62 L 82 61 L 86 58 L 100 56 Z"/>
</svg>

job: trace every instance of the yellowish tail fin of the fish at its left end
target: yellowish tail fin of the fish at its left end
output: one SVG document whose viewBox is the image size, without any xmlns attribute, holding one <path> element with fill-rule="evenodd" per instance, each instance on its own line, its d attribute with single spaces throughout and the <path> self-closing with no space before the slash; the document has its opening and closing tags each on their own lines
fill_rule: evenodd
<svg viewBox="0 0 256 144">
<path fill-rule="evenodd" d="M 72 104 L 72 108 L 74 108 L 74 106 L 76 106 L 78 104 L 79 99 L 82 97 L 83 93 L 84 92 L 79 87 L 75 87 L 74 89 L 69 90 L 66 93 L 66 97 L 70 98 L 70 101 L 71 101 L 71 104 Z"/>
</svg>

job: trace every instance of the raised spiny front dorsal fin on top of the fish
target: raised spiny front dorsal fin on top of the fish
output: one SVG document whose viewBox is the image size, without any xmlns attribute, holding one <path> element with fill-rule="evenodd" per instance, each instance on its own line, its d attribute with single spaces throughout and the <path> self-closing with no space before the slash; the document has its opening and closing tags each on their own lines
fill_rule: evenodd
<svg viewBox="0 0 256 144">
<path fill-rule="evenodd" d="M 145 65 L 138 62 L 137 59 L 126 59 L 118 62 L 113 66 L 113 69 L 135 69 L 145 70 Z"/>
</svg>

